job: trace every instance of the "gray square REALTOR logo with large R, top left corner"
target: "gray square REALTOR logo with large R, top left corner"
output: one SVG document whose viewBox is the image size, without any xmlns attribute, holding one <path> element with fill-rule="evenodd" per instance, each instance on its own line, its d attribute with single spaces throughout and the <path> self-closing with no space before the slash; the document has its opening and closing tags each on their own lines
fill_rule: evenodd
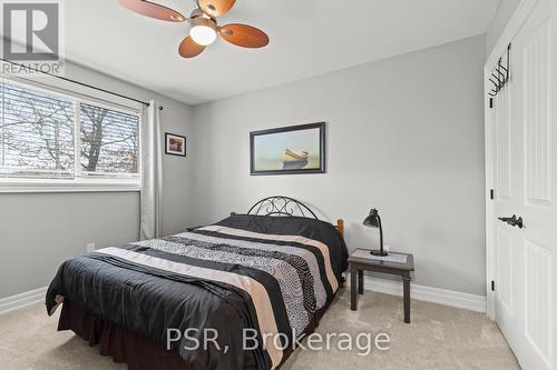
<svg viewBox="0 0 557 370">
<path fill-rule="evenodd" d="M 2 58 L 41 72 L 60 74 L 61 1 L 2 3 Z M 13 73 L 14 70 L 3 72 Z M 22 73 L 18 69 L 17 73 Z M 29 71 L 26 72 L 27 74 Z"/>
</svg>

